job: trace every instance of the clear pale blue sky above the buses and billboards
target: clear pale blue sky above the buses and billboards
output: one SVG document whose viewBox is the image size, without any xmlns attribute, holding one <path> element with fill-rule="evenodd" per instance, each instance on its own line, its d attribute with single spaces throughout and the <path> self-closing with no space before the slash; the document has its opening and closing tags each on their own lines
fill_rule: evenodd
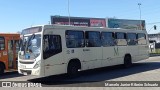
<svg viewBox="0 0 160 90">
<path fill-rule="evenodd" d="M 160 0 L 69 0 L 70 16 L 141 19 L 149 33 L 160 32 Z M 53 15 L 68 16 L 68 0 L 0 0 L 0 33 L 50 22 Z M 152 27 L 156 25 L 157 30 Z"/>
</svg>

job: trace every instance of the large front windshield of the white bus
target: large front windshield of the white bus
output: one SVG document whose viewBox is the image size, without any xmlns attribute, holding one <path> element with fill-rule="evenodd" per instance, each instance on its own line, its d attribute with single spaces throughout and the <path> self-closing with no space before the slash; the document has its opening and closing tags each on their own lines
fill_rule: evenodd
<svg viewBox="0 0 160 90">
<path fill-rule="evenodd" d="M 35 59 L 40 55 L 41 35 L 24 36 L 21 42 L 20 59 Z"/>
</svg>

